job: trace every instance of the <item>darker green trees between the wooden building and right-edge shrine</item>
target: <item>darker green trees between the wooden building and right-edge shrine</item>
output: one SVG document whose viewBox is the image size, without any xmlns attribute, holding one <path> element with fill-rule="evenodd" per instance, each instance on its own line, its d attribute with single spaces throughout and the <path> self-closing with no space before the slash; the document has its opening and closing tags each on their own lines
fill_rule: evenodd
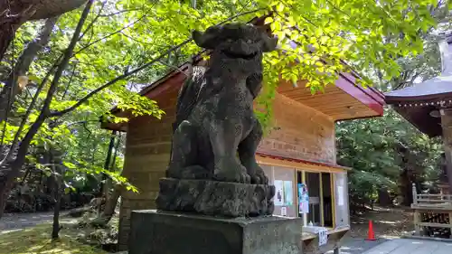
<svg viewBox="0 0 452 254">
<path fill-rule="evenodd" d="M 400 193 L 400 175 L 413 171 L 419 181 L 438 182 L 441 141 L 421 134 L 392 109 L 384 117 L 336 125 L 338 163 L 352 167 L 352 199 L 375 200 L 379 189 Z"/>
</svg>

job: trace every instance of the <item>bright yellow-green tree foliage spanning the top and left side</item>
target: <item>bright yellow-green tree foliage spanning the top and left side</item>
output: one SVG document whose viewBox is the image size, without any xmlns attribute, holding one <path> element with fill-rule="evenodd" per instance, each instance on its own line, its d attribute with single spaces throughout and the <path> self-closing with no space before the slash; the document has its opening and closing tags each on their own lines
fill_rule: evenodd
<svg viewBox="0 0 452 254">
<path fill-rule="evenodd" d="M 204 30 L 227 19 L 248 22 L 255 16 L 271 12 L 266 23 L 279 38 L 279 51 L 265 54 L 264 91 L 259 96 L 257 108 L 259 120 L 264 127 L 269 127 L 271 102 L 280 79 L 307 80 L 306 86 L 315 93 L 322 91 L 326 84 L 334 83 L 338 72 L 350 71 L 350 66 L 365 73 L 378 70 L 386 80 L 399 76 L 400 57 L 423 51 L 419 34 L 435 26 L 430 10 L 437 4 L 431 0 L 196 2 L 193 6 L 193 1 L 174 0 L 95 1 L 69 64 L 58 80 L 56 92 L 49 94 L 52 93 L 50 82 L 44 80 L 54 78 L 53 67 L 59 65 L 61 55 L 70 45 L 81 11 L 61 15 L 51 42 L 36 56 L 28 72 L 34 85 L 28 86 L 15 101 L 6 131 L 2 133 L 5 144 L 12 145 L 14 136 L 24 140 L 45 109 L 42 108 L 44 99 L 50 95 L 52 112 L 73 110 L 44 121 L 33 136 L 29 160 L 34 158 L 41 164 L 38 151 L 56 150 L 63 153 L 65 172 L 72 180 L 87 174 L 106 174 L 103 160 L 109 134 L 99 129 L 99 118 L 116 123 L 127 121 L 126 117 L 106 115 L 113 106 L 130 111 L 132 116 L 161 118 L 164 112 L 155 101 L 140 97 L 136 92 L 164 73 L 174 71 L 200 49 L 193 42 L 185 43 L 145 70 L 131 76 L 127 75 L 129 71 L 185 42 L 193 29 Z M 7 54 L 8 61 L 0 65 L 0 77 L 11 71 L 18 53 L 33 40 L 41 24 L 27 23 L 21 27 Z M 295 42 L 297 47 L 291 47 L 289 41 Z M 369 85 L 369 78 L 372 77 L 360 82 Z M 42 90 L 38 89 L 41 84 Z M 35 94 L 37 100 L 33 104 Z M 28 108 L 30 115 L 25 116 Z M 23 131 L 19 131 L 23 118 L 26 118 Z M 125 179 L 119 175 L 124 156 L 120 150 L 115 167 L 118 172 L 108 174 L 118 183 L 124 183 Z M 388 155 L 381 153 L 378 156 L 381 159 Z M 362 166 L 363 162 L 357 164 Z"/>
</svg>

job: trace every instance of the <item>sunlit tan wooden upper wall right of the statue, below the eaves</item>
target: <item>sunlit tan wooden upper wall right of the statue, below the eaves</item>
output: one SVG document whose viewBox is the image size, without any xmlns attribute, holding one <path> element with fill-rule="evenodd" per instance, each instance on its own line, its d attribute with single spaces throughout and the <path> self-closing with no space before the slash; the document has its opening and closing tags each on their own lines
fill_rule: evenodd
<svg viewBox="0 0 452 254">
<path fill-rule="evenodd" d="M 334 120 L 277 93 L 274 129 L 259 152 L 335 164 Z"/>
</svg>

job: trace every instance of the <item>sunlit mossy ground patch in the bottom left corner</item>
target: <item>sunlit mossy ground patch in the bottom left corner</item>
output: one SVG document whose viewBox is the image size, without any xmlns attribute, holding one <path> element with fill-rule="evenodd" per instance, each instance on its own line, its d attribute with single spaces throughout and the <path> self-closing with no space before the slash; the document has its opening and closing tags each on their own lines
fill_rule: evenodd
<svg viewBox="0 0 452 254">
<path fill-rule="evenodd" d="M 0 254 L 106 254 L 107 252 L 83 245 L 64 236 L 51 240 L 51 225 L 43 224 L 24 230 L 12 230 L 0 234 Z"/>
</svg>

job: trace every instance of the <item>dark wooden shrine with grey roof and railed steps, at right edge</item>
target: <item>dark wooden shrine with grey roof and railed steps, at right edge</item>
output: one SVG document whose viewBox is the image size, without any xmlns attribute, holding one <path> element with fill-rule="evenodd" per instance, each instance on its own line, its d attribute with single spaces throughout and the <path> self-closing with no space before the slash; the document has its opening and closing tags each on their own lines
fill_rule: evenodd
<svg viewBox="0 0 452 254">
<path fill-rule="evenodd" d="M 441 174 L 437 180 L 438 193 L 424 193 L 412 183 L 411 209 L 417 237 L 452 238 L 452 36 L 445 34 L 438 43 L 441 73 L 386 93 L 385 101 L 400 116 L 422 133 L 441 136 L 444 154 Z"/>
</svg>

